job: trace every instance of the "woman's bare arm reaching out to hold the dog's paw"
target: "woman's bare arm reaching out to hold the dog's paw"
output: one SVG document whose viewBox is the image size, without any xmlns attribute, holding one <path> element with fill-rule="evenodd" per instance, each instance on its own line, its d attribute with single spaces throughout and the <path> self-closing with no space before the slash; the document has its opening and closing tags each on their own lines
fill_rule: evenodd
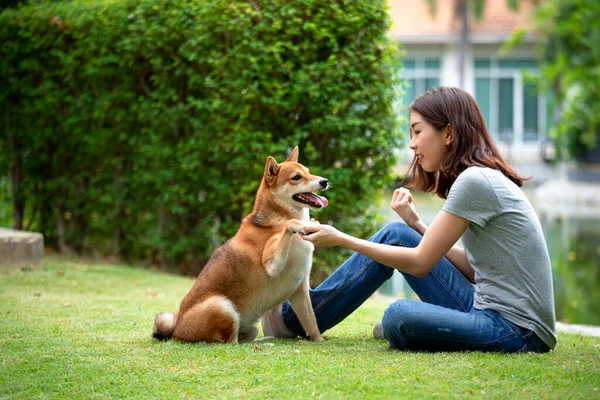
<svg viewBox="0 0 600 400">
<path fill-rule="evenodd" d="M 316 246 L 343 246 L 399 271 L 424 277 L 449 252 L 468 226 L 468 220 L 440 211 L 415 248 L 369 242 L 318 223 L 307 224 L 303 238 Z"/>
</svg>

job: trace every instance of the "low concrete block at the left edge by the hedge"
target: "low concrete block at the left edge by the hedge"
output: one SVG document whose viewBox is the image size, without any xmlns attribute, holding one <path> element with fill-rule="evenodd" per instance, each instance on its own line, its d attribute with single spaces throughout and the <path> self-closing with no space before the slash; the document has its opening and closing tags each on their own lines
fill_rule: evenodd
<svg viewBox="0 0 600 400">
<path fill-rule="evenodd" d="M 0 228 L 0 268 L 40 266 L 44 258 L 44 235 Z"/>
</svg>

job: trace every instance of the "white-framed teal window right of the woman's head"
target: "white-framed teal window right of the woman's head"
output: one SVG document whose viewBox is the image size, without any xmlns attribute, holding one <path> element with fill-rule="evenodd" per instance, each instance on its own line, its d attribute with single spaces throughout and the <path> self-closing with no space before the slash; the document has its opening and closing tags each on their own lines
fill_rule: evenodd
<svg viewBox="0 0 600 400">
<path fill-rule="evenodd" d="M 534 60 L 475 59 L 475 99 L 490 134 L 503 143 L 536 143 L 546 136 L 546 97 L 523 77 Z"/>
</svg>

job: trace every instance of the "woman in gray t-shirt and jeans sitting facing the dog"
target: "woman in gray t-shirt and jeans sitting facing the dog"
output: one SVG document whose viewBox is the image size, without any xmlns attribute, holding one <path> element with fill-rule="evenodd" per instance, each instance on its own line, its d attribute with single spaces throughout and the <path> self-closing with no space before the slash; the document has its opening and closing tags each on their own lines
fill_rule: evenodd
<svg viewBox="0 0 600 400">
<path fill-rule="evenodd" d="M 411 104 L 411 188 L 446 199 L 431 226 L 409 190 L 391 207 L 405 224 L 369 241 L 313 221 L 303 239 L 354 250 L 311 291 L 321 332 L 358 308 L 395 269 L 421 301 L 398 300 L 374 335 L 397 349 L 547 352 L 556 345 L 550 259 L 539 220 L 506 164 L 477 103 L 440 87 Z M 462 237 L 464 249 L 455 245 Z M 288 303 L 262 320 L 266 336 L 304 336 Z"/>
</svg>

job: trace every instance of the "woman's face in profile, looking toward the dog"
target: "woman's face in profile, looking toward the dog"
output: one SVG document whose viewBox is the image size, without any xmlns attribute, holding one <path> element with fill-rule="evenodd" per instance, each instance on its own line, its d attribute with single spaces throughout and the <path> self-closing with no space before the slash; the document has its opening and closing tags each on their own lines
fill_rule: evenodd
<svg viewBox="0 0 600 400">
<path fill-rule="evenodd" d="M 448 127 L 436 130 L 416 111 L 410 113 L 410 144 L 415 158 L 427 172 L 436 172 L 442 168 L 448 155 L 451 135 Z"/>
</svg>

